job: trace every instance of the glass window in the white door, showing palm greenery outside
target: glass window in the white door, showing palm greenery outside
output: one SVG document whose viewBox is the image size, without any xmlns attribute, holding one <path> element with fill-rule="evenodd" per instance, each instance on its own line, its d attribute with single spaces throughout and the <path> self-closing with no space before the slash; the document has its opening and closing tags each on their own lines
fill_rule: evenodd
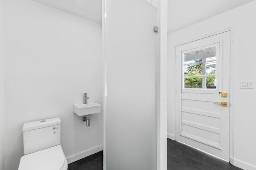
<svg viewBox="0 0 256 170">
<path fill-rule="evenodd" d="M 218 43 L 182 52 L 182 92 L 216 91 Z"/>
</svg>

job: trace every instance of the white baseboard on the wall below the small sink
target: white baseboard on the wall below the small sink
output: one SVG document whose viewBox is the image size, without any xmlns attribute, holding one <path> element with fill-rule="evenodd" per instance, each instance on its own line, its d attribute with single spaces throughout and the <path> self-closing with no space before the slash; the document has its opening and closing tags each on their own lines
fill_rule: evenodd
<svg viewBox="0 0 256 170">
<path fill-rule="evenodd" d="M 103 145 L 99 145 L 97 147 L 88 149 L 88 150 L 84 150 L 82 152 L 79 152 L 77 154 L 74 154 L 72 156 L 68 156 L 66 159 L 68 161 L 68 164 L 72 163 L 72 162 L 76 162 L 77 160 L 80 160 L 82 158 L 85 158 L 87 156 L 90 156 L 92 154 L 95 154 L 97 152 L 100 152 L 101 150 L 103 150 Z"/>
</svg>

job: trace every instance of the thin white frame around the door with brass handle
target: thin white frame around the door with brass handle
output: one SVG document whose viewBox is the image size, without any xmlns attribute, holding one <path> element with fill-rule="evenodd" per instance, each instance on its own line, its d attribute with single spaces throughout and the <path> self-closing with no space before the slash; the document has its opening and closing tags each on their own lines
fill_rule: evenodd
<svg viewBox="0 0 256 170">
<path fill-rule="evenodd" d="M 195 38 L 195 39 L 191 39 L 191 40 L 188 40 L 188 41 L 185 41 L 183 43 L 178 43 L 176 45 L 174 45 L 174 59 L 175 59 L 175 78 L 174 80 L 176 81 L 177 80 L 177 70 L 176 70 L 176 59 L 177 59 L 177 56 L 176 56 L 176 47 L 180 46 L 180 45 L 184 45 L 186 43 L 191 43 L 193 41 L 197 41 L 197 40 L 200 40 L 200 39 L 204 39 L 204 38 L 207 38 L 207 37 L 211 37 L 211 36 L 214 36 L 214 35 L 218 35 L 220 33 L 224 33 L 224 32 L 230 32 L 230 158 L 229 158 L 229 162 L 231 164 L 234 164 L 233 162 L 233 148 L 234 148 L 234 137 L 233 137 L 233 125 L 234 125 L 234 121 L 233 121 L 233 89 L 234 89 L 234 86 L 233 86 L 233 80 L 234 80 L 234 75 L 231 74 L 232 71 L 233 71 L 233 60 L 232 60 L 232 56 L 233 56 L 233 51 L 234 51 L 234 41 L 233 41 L 233 38 L 234 38 L 234 28 L 233 27 L 230 27 L 230 28 L 227 28 L 227 29 L 224 29 L 224 30 L 221 30 L 221 31 L 217 31 L 217 32 L 214 32 L 214 33 L 211 33 L 211 34 L 208 34 L 208 35 L 203 35 L 201 37 L 198 37 L 198 38 Z M 179 74 L 180 75 L 180 74 Z M 181 101 L 180 101 L 180 98 L 181 98 L 181 94 L 179 92 L 177 92 L 177 86 L 181 86 L 181 82 L 178 82 L 176 81 L 176 85 L 175 85 L 175 90 L 176 90 L 176 96 L 175 96 L 175 119 L 174 119 L 174 139 L 176 140 L 177 139 L 177 133 L 176 133 L 176 127 L 177 127 L 177 122 L 176 122 L 176 119 L 177 119 L 177 110 L 179 107 L 181 107 Z M 177 102 L 179 101 L 179 102 Z M 179 134 L 178 134 L 179 135 Z"/>
</svg>

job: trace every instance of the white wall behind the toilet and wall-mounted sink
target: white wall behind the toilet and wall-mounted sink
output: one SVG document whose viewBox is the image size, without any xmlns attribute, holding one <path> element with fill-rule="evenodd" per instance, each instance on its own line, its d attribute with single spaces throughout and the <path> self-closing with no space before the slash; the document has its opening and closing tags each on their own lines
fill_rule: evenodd
<svg viewBox="0 0 256 170">
<path fill-rule="evenodd" d="M 90 127 L 73 103 L 102 104 L 102 25 L 30 0 L 4 0 L 6 170 L 23 155 L 24 122 L 60 117 L 68 162 L 102 150 L 102 113 Z"/>
</svg>

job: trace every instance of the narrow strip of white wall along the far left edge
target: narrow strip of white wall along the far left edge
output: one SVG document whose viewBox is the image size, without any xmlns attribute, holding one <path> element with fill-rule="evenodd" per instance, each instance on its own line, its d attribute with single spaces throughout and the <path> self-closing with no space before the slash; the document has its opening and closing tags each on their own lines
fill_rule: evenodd
<svg viewBox="0 0 256 170">
<path fill-rule="evenodd" d="M 0 0 L 0 170 L 5 168 L 4 158 L 4 65 L 3 65 L 3 50 L 4 50 L 4 36 L 3 36 L 3 13 L 2 0 Z"/>
</svg>

